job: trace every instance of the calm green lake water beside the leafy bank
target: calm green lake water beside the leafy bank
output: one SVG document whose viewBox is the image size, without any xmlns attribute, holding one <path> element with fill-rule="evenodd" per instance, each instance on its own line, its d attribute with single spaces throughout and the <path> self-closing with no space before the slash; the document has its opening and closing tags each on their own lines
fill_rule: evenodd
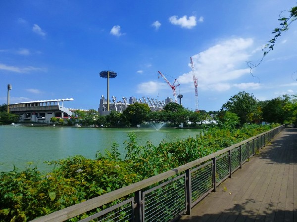
<svg viewBox="0 0 297 222">
<path fill-rule="evenodd" d="M 81 127 L 13 127 L 0 126 L 0 172 L 10 171 L 15 165 L 23 170 L 28 162 L 37 164 L 40 171 L 49 171 L 44 161 L 64 159 L 83 155 L 94 159 L 99 150 L 110 150 L 112 142 L 119 144 L 121 155 L 125 156 L 124 141 L 128 133 L 134 132 L 138 145 L 151 141 L 158 145 L 162 140 L 176 141 L 193 137 L 198 129 L 162 128 L 160 131 L 149 128 L 106 129 Z"/>
</svg>

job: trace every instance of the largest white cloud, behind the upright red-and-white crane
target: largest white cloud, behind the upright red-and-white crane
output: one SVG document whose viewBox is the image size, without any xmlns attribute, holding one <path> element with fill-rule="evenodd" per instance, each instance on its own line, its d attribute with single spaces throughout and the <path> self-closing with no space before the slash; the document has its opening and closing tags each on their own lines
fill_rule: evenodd
<svg viewBox="0 0 297 222">
<path fill-rule="evenodd" d="M 246 61 L 250 56 L 248 50 L 252 44 L 252 39 L 230 39 L 192 56 L 198 87 L 216 91 L 228 90 L 231 88 L 229 81 L 249 74 Z M 190 64 L 189 67 L 191 67 Z M 178 82 L 194 86 L 193 72 L 179 76 Z M 238 85 L 240 86 L 244 87 L 244 85 Z"/>
</svg>

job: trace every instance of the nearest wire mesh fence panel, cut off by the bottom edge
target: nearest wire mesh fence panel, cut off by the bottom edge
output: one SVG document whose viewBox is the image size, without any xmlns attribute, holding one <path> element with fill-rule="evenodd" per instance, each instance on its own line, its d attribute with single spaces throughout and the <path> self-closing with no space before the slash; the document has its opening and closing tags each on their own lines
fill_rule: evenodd
<svg viewBox="0 0 297 222">
<path fill-rule="evenodd" d="M 79 222 L 134 222 L 134 197 Z"/>
</svg>

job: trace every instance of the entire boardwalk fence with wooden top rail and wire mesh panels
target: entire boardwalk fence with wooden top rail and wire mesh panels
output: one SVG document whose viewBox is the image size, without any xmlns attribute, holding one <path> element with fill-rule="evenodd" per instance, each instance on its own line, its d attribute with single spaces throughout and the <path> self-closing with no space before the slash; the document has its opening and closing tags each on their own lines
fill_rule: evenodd
<svg viewBox="0 0 297 222">
<path fill-rule="evenodd" d="M 233 172 L 241 168 L 284 126 L 258 134 L 223 150 L 157 176 L 56 211 L 34 222 L 63 222 L 93 214 L 80 222 L 171 222 L 192 207 Z M 104 210 L 103 210 L 104 209 Z M 94 213 L 90 213 L 90 212 Z"/>
</svg>

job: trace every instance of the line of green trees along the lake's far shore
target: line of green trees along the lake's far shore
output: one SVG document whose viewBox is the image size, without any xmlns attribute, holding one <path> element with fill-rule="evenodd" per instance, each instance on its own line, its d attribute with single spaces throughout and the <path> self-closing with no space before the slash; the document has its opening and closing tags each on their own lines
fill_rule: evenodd
<svg viewBox="0 0 297 222">
<path fill-rule="evenodd" d="M 0 123 L 18 122 L 18 115 L 7 113 L 7 105 L 0 106 Z M 240 127 L 245 123 L 279 123 L 297 125 L 297 95 L 282 95 L 270 100 L 259 101 L 251 93 L 241 91 L 233 95 L 219 111 L 191 111 L 178 103 L 168 103 L 161 111 L 150 111 L 147 104 L 135 103 L 123 113 L 111 111 L 106 116 L 99 115 L 95 109 L 76 110 L 67 122 L 55 117 L 51 122 L 61 125 L 79 124 L 82 126 L 136 127 L 145 122 L 164 122 L 168 126 L 178 127 L 181 123 L 187 127 L 198 127 L 202 123 L 219 124 L 225 127 Z"/>
</svg>

